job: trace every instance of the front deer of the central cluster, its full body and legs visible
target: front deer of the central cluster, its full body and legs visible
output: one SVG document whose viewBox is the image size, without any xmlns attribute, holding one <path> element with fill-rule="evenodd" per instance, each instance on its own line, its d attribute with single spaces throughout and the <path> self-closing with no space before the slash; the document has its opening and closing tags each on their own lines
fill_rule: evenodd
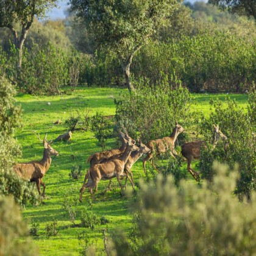
<svg viewBox="0 0 256 256">
<path fill-rule="evenodd" d="M 85 181 L 80 189 L 80 198 L 79 201 L 82 202 L 82 195 L 84 193 L 85 188 L 89 188 L 91 196 L 93 195 L 93 188 L 98 186 L 99 181 L 102 180 L 110 180 L 113 177 L 116 177 L 118 180 L 119 186 L 123 191 L 123 186 L 120 181 L 121 176 L 126 176 L 124 172 L 124 166 L 132 153 L 132 151 L 138 151 L 139 148 L 132 143 L 132 140 L 128 140 L 126 149 L 120 157 L 115 157 L 110 160 L 106 160 L 102 163 L 98 163 L 96 165 L 91 166 L 88 169 L 87 174 L 85 175 Z M 86 180 L 88 179 L 88 182 Z"/>
</svg>

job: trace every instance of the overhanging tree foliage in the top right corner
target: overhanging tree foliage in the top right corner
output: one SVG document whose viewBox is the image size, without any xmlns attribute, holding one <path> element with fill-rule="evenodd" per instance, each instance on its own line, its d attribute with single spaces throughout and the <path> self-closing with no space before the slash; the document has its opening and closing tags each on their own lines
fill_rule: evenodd
<svg viewBox="0 0 256 256">
<path fill-rule="evenodd" d="M 231 13 L 253 16 L 256 21 L 255 0 L 209 0 L 209 3 L 218 5 L 222 10 L 228 9 Z"/>
</svg>

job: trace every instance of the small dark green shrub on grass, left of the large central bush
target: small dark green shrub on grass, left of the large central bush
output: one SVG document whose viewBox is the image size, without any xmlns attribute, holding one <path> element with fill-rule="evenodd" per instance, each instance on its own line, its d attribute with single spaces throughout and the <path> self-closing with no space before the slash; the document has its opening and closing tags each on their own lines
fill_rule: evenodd
<svg viewBox="0 0 256 256">
<path fill-rule="evenodd" d="M 112 137 L 111 120 L 104 117 L 101 113 L 96 113 L 96 115 L 91 118 L 91 130 L 94 132 L 95 138 L 98 140 L 98 146 L 102 149 L 105 148 L 105 141 Z"/>
</svg>

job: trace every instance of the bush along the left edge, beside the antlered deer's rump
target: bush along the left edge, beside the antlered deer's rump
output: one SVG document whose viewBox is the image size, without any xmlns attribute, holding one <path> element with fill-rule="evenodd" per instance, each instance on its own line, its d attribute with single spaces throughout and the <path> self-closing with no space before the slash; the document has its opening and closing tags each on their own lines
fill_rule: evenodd
<svg viewBox="0 0 256 256">
<path fill-rule="evenodd" d="M 21 108 L 15 105 L 15 90 L 4 77 L 0 77 L 0 194 L 12 194 L 15 202 L 25 206 L 37 201 L 37 192 L 12 170 L 20 148 L 13 138 L 21 126 Z"/>
</svg>

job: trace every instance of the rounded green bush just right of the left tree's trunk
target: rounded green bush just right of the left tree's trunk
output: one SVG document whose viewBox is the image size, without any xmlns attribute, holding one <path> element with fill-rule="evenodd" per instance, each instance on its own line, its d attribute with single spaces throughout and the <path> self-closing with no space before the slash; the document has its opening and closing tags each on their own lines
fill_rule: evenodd
<svg viewBox="0 0 256 256">
<path fill-rule="evenodd" d="M 68 80 L 68 57 L 51 43 L 24 54 L 20 87 L 30 94 L 56 94 Z"/>
</svg>

